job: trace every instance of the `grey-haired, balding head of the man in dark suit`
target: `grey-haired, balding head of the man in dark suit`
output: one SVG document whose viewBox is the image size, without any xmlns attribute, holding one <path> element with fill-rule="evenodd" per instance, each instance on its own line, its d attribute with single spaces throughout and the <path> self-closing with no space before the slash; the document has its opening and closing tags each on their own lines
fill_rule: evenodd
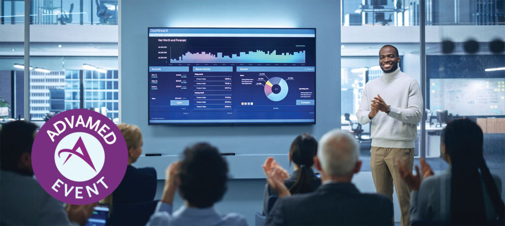
<svg viewBox="0 0 505 226">
<path fill-rule="evenodd" d="M 359 145 L 348 132 L 332 130 L 319 140 L 317 156 L 328 176 L 350 176 L 359 156 Z"/>
</svg>

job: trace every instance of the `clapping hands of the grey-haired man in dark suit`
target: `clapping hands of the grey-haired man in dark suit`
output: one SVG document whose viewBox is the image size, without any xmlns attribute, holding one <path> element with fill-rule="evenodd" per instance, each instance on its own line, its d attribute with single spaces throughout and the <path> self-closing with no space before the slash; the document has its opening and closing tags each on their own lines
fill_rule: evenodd
<svg viewBox="0 0 505 226">
<path fill-rule="evenodd" d="M 267 158 L 262 167 L 267 176 L 268 185 L 277 192 L 279 197 L 290 196 L 291 193 L 284 185 L 284 179 L 289 178 L 287 171 L 273 157 Z"/>
</svg>

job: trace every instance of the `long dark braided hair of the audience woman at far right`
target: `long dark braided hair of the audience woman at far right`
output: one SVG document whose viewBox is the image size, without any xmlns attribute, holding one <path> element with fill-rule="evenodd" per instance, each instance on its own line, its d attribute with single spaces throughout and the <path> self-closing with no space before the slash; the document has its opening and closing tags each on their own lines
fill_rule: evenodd
<svg viewBox="0 0 505 226">
<path fill-rule="evenodd" d="M 503 217 L 503 202 L 484 161 L 480 127 L 468 119 L 455 120 L 442 136 L 451 161 L 451 223 L 486 224 L 481 176 L 497 215 Z"/>
</svg>

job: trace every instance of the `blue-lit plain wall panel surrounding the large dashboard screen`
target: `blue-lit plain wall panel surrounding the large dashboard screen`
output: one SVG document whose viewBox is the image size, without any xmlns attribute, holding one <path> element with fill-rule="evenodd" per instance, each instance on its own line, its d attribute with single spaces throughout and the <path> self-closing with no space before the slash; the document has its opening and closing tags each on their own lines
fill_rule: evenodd
<svg viewBox="0 0 505 226">
<path fill-rule="evenodd" d="M 140 127 L 145 153 L 137 165 L 155 166 L 159 178 L 183 148 L 208 141 L 227 156 L 234 178 L 264 178 L 260 165 L 287 152 L 299 134 L 317 139 L 340 127 L 339 1 L 133 1 L 120 5 L 120 120 Z M 316 125 L 148 126 L 148 27 L 286 27 L 316 28 Z"/>
</svg>

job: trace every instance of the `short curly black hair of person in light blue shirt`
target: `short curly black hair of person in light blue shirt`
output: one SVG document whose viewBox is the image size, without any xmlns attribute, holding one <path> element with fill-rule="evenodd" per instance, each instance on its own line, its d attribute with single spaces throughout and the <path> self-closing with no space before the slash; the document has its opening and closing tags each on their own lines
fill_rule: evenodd
<svg viewBox="0 0 505 226">
<path fill-rule="evenodd" d="M 228 163 L 216 147 L 197 143 L 186 147 L 179 168 L 179 193 L 197 208 L 207 208 L 223 198 L 228 180 Z"/>
</svg>

